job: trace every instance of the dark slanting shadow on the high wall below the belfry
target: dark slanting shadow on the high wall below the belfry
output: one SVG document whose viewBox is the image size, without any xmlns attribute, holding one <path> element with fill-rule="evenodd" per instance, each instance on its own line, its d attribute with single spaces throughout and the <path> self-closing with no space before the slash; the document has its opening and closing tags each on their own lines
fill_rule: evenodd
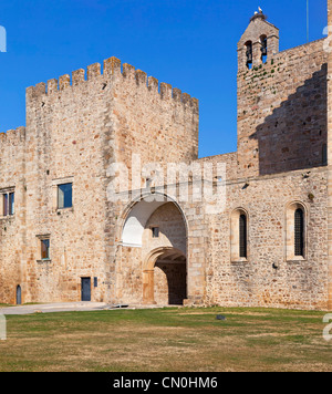
<svg viewBox="0 0 332 394">
<path fill-rule="evenodd" d="M 260 175 L 326 165 L 326 77 L 323 64 L 250 136 L 258 141 Z"/>
</svg>

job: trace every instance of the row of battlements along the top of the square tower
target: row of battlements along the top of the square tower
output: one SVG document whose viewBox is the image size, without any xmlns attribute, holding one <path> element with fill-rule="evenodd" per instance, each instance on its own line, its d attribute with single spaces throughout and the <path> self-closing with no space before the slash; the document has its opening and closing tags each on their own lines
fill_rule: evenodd
<svg viewBox="0 0 332 394">
<path fill-rule="evenodd" d="M 27 103 L 34 100 L 42 100 L 44 96 L 59 94 L 66 89 L 75 89 L 75 86 L 96 81 L 100 79 L 104 83 L 112 79 L 122 77 L 124 80 L 134 80 L 137 85 L 145 85 L 151 92 L 158 93 L 162 100 L 174 100 L 175 102 L 183 103 L 185 106 L 191 107 L 198 112 L 199 102 L 197 98 L 191 97 L 187 93 L 181 93 L 179 89 L 172 87 L 166 83 L 159 83 L 153 76 L 147 77 L 147 74 L 141 70 L 135 70 L 131 64 L 124 63 L 116 58 L 110 58 L 104 61 L 103 72 L 100 63 L 94 63 L 87 66 L 87 75 L 85 79 L 85 70 L 80 69 L 69 74 L 62 75 L 56 79 L 49 80 L 48 83 L 39 83 L 35 86 L 27 89 Z M 101 89 L 105 85 L 101 84 Z"/>
</svg>

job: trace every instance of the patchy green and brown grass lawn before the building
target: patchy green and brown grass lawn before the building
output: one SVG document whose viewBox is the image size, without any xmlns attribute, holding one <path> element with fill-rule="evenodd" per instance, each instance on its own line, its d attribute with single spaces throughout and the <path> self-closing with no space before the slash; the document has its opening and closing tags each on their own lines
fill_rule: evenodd
<svg viewBox="0 0 332 394">
<path fill-rule="evenodd" d="M 0 371 L 332 371 L 324 314 L 188 308 L 8 315 Z"/>
</svg>

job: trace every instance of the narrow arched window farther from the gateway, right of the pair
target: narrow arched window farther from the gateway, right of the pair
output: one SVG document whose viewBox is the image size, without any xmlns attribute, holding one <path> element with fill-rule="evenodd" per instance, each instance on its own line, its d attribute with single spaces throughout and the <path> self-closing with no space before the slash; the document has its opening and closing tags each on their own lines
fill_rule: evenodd
<svg viewBox="0 0 332 394">
<path fill-rule="evenodd" d="M 286 212 L 287 260 L 303 260 L 307 255 L 307 208 L 302 203 L 292 203 Z"/>
</svg>

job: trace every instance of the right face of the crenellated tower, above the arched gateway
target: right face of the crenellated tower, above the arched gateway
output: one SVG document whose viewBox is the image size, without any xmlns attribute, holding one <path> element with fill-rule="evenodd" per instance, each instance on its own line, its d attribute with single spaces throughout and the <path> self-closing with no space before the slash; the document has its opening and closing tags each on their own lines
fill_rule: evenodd
<svg viewBox="0 0 332 394">
<path fill-rule="evenodd" d="M 198 101 L 128 64 L 120 72 L 112 87 L 117 163 L 131 168 L 133 154 L 141 155 L 142 165 L 196 159 Z"/>
</svg>

